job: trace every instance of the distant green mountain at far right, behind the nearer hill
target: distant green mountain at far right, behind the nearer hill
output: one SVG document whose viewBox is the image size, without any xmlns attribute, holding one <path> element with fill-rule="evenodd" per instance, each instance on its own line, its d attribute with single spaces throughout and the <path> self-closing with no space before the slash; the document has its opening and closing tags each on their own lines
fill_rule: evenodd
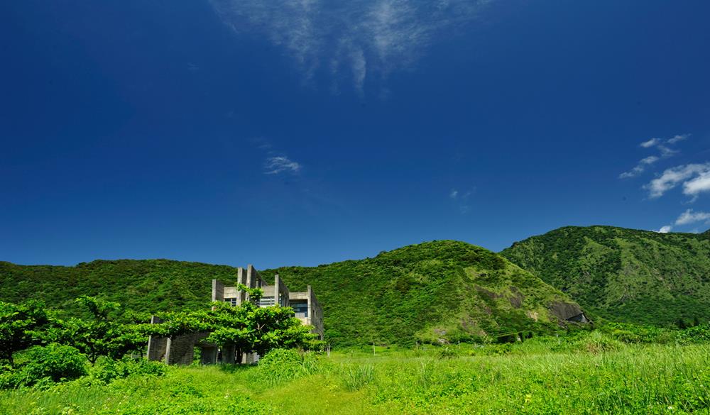
<svg viewBox="0 0 710 415">
<path fill-rule="evenodd" d="M 501 255 L 606 319 L 660 326 L 710 319 L 710 231 L 569 226 Z"/>
</svg>

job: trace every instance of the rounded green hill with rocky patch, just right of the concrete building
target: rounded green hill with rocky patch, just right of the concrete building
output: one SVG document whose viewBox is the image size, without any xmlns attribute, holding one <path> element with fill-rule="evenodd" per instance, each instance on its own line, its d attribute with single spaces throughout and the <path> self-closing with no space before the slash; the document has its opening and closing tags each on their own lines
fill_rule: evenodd
<svg viewBox="0 0 710 415">
<path fill-rule="evenodd" d="M 557 327 L 550 306 L 572 303 L 500 255 L 452 240 L 262 275 L 275 272 L 290 289 L 312 285 L 337 345 L 514 338 Z"/>
</svg>

